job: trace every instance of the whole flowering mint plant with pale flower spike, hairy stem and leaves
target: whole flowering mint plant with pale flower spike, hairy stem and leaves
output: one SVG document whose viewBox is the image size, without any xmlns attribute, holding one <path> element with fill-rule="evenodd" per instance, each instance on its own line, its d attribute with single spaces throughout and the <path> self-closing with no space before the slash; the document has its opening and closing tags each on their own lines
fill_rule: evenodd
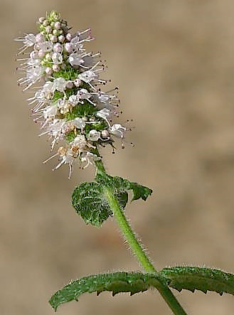
<svg viewBox="0 0 234 315">
<path fill-rule="evenodd" d="M 92 164 L 95 178 L 90 183 L 81 183 L 73 191 L 72 203 L 86 224 L 98 228 L 114 217 L 119 230 L 127 240 L 142 272 L 114 272 L 95 274 L 76 279 L 55 292 L 50 298 L 53 309 L 68 301 L 78 300 L 85 292 L 110 291 L 136 294 L 149 288 L 159 290 L 174 314 L 186 314 L 171 289 L 187 289 L 192 292 L 214 291 L 219 294 L 234 294 L 234 275 L 218 269 L 200 267 L 171 267 L 156 270 L 146 251 L 137 240 L 124 209 L 132 193 L 132 201 L 142 198 L 147 201 L 151 189 L 125 178 L 110 176 L 102 163 L 100 149 L 110 145 L 115 152 L 115 140 L 124 147 L 127 127 L 113 123 L 119 117 L 117 87 L 102 91 L 107 80 L 100 78 L 105 63 L 101 53 L 87 52 L 85 44 L 92 41 L 90 29 L 70 33 L 68 23 L 60 14 L 51 11 L 46 18 L 38 19 L 38 33 L 28 33 L 16 41 L 23 47 L 18 50 L 21 65 L 18 70 L 23 77 L 18 84 L 23 91 L 33 87 L 32 105 L 34 122 L 40 125 L 41 133 L 51 139 L 51 151 L 58 149 L 44 161 L 58 158 L 53 170 L 68 164 L 70 178 L 75 162 L 85 169 Z M 28 48 L 31 52 L 27 53 Z M 59 144 L 59 146 L 58 146 Z"/>
</svg>

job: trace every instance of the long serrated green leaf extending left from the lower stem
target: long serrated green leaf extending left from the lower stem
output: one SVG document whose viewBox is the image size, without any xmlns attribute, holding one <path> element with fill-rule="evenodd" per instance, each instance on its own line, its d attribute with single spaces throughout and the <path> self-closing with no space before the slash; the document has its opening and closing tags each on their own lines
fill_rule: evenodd
<svg viewBox="0 0 234 315">
<path fill-rule="evenodd" d="M 153 284 L 151 279 L 156 279 L 156 274 L 142 274 L 141 272 L 114 272 L 110 274 L 97 274 L 83 277 L 60 289 L 53 294 L 49 303 L 53 309 L 63 303 L 76 300 L 86 292 L 97 292 L 97 295 L 104 291 L 112 292 L 112 296 L 119 292 L 130 292 L 135 294 L 144 292 Z"/>
</svg>

